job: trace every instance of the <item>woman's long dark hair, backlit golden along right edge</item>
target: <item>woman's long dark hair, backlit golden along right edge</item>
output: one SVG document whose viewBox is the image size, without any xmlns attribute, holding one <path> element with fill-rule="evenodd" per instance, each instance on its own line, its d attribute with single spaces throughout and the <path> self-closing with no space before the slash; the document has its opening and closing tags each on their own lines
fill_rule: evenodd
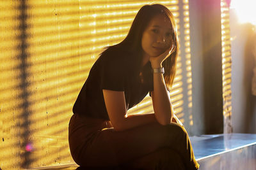
<svg viewBox="0 0 256 170">
<path fill-rule="evenodd" d="M 166 83 L 166 87 L 171 88 L 176 71 L 175 66 L 179 52 L 179 40 L 177 36 L 177 25 L 175 23 L 174 17 L 171 11 L 162 4 L 142 6 L 138 11 L 136 17 L 134 18 L 131 29 L 127 34 L 126 38 L 117 45 L 108 46 L 107 49 L 117 48 L 120 50 L 125 50 L 125 52 L 131 54 L 131 57 L 134 58 L 136 61 L 135 69 L 140 72 L 143 56 L 143 50 L 141 47 L 142 34 L 152 18 L 156 17 L 157 15 L 164 15 L 170 20 L 170 23 L 172 24 L 172 39 L 175 48 L 172 54 L 163 62 L 165 72 L 164 81 Z"/>
</svg>

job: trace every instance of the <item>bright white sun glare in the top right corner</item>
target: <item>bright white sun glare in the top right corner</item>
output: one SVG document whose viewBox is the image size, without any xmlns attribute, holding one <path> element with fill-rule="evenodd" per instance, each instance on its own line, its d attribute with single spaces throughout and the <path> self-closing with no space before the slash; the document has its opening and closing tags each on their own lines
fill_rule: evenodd
<svg viewBox="0 0 256 170">
<path fill-rule="evenodd" d="M 230 8 L 236 10 L 238 20 L 241 24 L 250 22 L 251 24 L 256 25 L 255 0 L 232 0 Z"/>
</svg>

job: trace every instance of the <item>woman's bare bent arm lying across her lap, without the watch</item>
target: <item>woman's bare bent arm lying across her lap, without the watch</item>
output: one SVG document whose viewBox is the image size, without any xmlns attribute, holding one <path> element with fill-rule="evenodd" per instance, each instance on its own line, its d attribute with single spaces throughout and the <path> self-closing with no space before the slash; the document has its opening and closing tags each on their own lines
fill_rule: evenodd
<svg viewBox="0 0 256 170">
<path fill-rule="evenodd" d="M 154 113 L 127 116 L 124 92 L 103 90 L 103 96 L 109 119 L 116 131 L 125 131 L 139 125 L 157 122 Z"/>
</svg>

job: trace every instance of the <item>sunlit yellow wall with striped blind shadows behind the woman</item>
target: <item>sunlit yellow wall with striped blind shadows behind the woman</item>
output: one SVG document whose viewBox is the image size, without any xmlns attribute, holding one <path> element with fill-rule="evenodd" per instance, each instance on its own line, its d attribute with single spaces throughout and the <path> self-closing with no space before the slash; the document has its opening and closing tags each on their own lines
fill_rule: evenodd
<svg viewBox="0 0 256 170">
<path fill-rule="evenodd" d="M 153 1 L 1 1 L 0 167 L 72 164 L 68 121 L 102 48 L 125 38 L 143 4 Z M 180 39 L 171 92 L 189 129 L 192 79 L 188 0 L 154 1 L 175 16 Z M 146 97 L 129 114 L 152 112 Z"/>
</svg>

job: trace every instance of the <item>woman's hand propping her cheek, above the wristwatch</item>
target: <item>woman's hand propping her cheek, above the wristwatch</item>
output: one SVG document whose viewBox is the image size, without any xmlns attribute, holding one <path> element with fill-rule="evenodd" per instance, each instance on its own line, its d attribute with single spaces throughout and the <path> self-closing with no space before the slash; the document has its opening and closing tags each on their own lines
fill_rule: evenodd
<svg viewBox="0 0 256 170">
<path fill-rule="evenodd" d="M 172 52 L 174 51 L 174 45 L 172 45 L 170 48 L 167 48 L 167 50 L 163 53 L 161 53 L 161 55 L 157 56 L 157 57 L 150 57 L 149 61 L 151 62 L 151 66 L 153 69 L 162 67 L 162 63 L 165 59 L 167 59 Z"/>
</svg>

